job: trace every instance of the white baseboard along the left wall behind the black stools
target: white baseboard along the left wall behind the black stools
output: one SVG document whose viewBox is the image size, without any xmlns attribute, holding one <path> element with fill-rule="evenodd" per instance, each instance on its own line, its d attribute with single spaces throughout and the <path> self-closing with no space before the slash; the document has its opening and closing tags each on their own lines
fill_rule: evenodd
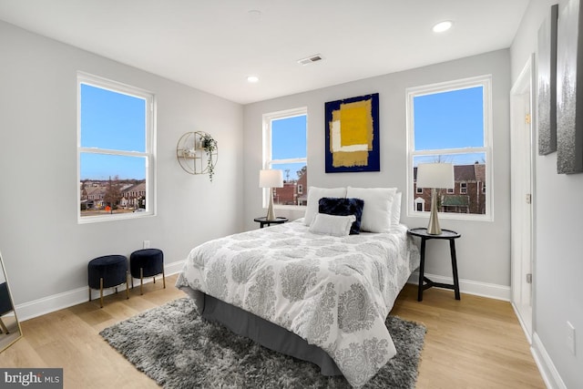
<svg viewBox="0 0 583 389">
<path fill-rule="evenodd" d="M 176 261 L 164 265 L 164 273 L 166 275 L 176 274 L 182 270 L 184 261 Z M 145 281 L 145 283 L 152 282 L 151 278 Z M 138 282 L 139 283 L 139 282 Z M 135 285 L 135 282 L 134 282 Z M 170 285 L 172 286 L 172 285 Z M 168 287 L 168 285 L 167 285 Z M 125 285 L 118 287 L 118 292 L 123 292 L 126 290 Z M 103 291 L 103 295 L 115 293 L 115 290 L 109 288 Z M 93 290 L 91 292 L 91 299 L 95 300 L 99 298 L 99 292 Z M 77 288 L 73 291 L 67 291 L 62 293 L 53 294 L 52 296 L 43 297 L 42 299 L 34 300 L 32 302 L 24 302 L 15 306 L 16 315 L 18 320 L 24 322 L 28 319 L 32 319 L 37 316 L 44 315 L 46 313 L 55 312 L 68 308 L 73 305 L 80 304 L 82 302 L 87 302 L 89 300 L 89 293 L 87 286 Z"/>
</svg>

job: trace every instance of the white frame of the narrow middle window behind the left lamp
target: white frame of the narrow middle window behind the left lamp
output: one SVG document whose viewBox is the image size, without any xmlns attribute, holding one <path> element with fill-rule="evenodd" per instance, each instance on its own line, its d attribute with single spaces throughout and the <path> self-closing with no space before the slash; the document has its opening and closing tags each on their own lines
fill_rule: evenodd
<svg viewBox="0 0 583 389">
<path fill-rule="evenodd" d="M 271 121 L 278 120 L 282 118 L 295 118 L 305 116 L 306 117 L 306 157 L 296 158 L 296 159 L 272 159 L 271 154 Z M 263 114 L 263 161 L 261 169 L 271 169 L 272 165 L 281 163 L 305 163 L 306 169 L 308 167 L 308 107 L 296 107 L 291 109 L 284 109 L 281 111 L 269 112 Z M 269 192 L 268 189 L 262 189 L 262 206 L 267 209 L 269 204 Z M 305 210 L 305 205 L 282 205 L 273 204 L 273 208 L 278 210 Z"/>
</svg>

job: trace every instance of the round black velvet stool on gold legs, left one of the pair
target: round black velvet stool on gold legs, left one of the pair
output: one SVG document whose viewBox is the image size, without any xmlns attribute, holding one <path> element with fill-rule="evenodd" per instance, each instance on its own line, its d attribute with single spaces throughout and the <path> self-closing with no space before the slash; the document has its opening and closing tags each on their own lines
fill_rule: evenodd
<svg viewBox="0 0 583 389">
<path fill-rule="evenodd" d="M 89 261 L 87 267 L 89 273 L 89 301 L 91 301 L 91 289 L 99 290 L 99 304 L 103 308 L 103 288 L 116 288 L 122 283 L 126 284 L 126 298 L 128 291 L 128 258 L 125 255 L 104 255 Z"/>
</svg>

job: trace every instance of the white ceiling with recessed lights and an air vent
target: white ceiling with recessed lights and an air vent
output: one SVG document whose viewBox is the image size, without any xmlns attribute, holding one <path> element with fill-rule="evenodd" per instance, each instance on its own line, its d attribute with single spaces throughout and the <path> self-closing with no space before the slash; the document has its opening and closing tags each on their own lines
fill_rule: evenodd
<svg viewBox="0 0 583 389">
<path fill-rule="evenodd" d="M 509 47 L 528 2 L 0 0 L 0 20 L 247 104 Z"/>
</svg>

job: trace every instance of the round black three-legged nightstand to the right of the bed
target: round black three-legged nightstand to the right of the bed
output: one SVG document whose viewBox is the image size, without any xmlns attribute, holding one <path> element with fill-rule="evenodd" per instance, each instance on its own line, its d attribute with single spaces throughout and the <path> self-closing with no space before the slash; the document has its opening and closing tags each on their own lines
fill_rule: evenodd
<svg viewBox="0 0 583 389">
<path fill-rule="evenodd" d="M 436 286 L 438 288 L 452 289 L 455 292 L 455 300 L 460 300 L 459 295 L 459 280 L 457 279 L 457 259 L 455 258 L 455 240 L 462 235 L 453 230 L 441 230 L 439 235 L 432 235 L 427 233 L 426 228 L 410 229 L 407 233 L 421 238 L 421 263 L 419 264 L 419 286 L 417 287 L 417 301 L 423 301 L 423 291 L 425 289 Z M 425 241 L 431 239 L 441 239 L 449 241 L 449 251 L 452 257 L 452 272 L 454 275 L 454 284 L 433 282 L 424 275 L 425 268 Z M 425 282 L 425 283 L 424 283 Z"/>
</svg>

